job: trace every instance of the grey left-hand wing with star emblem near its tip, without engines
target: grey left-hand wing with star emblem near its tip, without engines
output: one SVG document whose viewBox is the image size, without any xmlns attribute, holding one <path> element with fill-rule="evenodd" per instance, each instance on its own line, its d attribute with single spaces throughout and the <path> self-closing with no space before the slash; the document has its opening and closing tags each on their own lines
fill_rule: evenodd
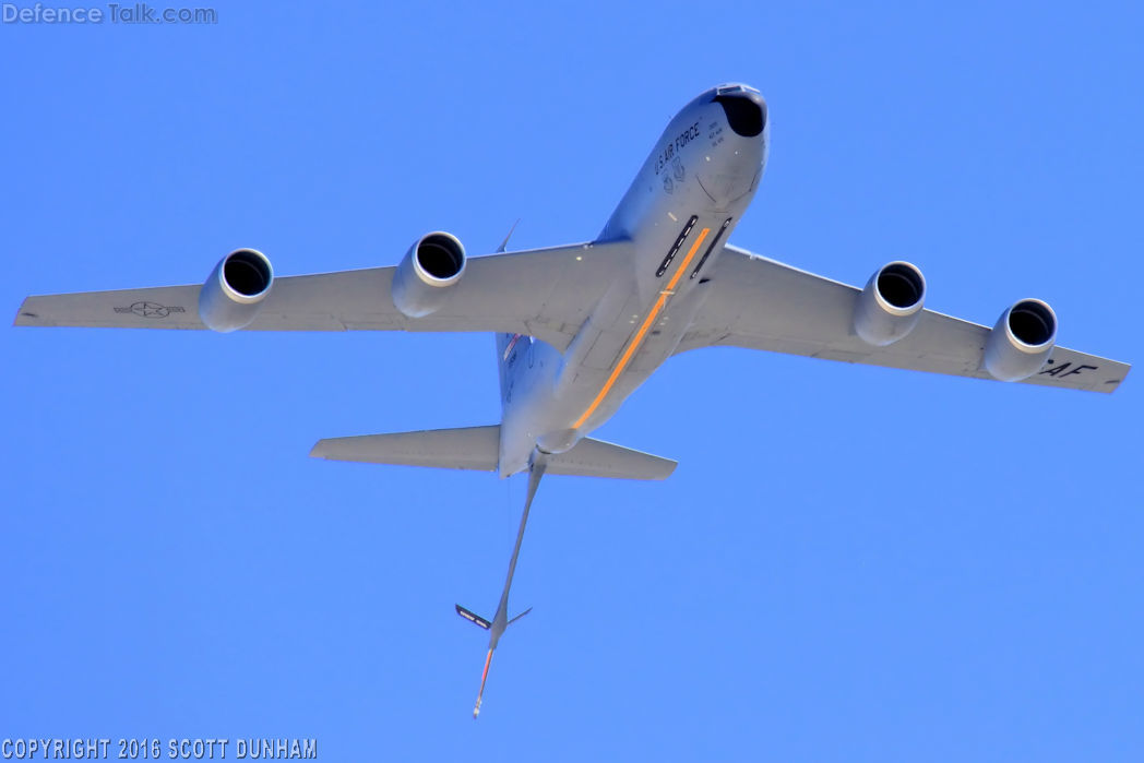
<svg viewBox="0 0 1144 763">
<path fill-rule="evenodd" d="M 390 295 L 396 268 L 276 278 L 247 331 L 419 331 L 526 334 L 564 350 L 626 261 L 627 241 L 472 257 L 445 304 L 407 318 Z M 206 328 L 199 284 L 30 296 L 17 326 Z"/>
</svg>

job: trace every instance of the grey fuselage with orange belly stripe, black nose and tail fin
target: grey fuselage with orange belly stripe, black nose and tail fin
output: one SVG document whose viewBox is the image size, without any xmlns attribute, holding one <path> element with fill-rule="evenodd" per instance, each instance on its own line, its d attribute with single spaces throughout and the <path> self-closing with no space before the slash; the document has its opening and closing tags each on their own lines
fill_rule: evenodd
<svg viewBox="0 0 1144 763">
<path fill-rule="evenodd" d="M 770 136 L 757 92 L 705 92 L 668 124 L 598 239 L 630 240 L 631 267 L 563 353 L 516 341 L 502 392 L 500 474 L 563 453 L 614 414 L 678 345 L 709 272 L 754 198 Z"/>
</svg>

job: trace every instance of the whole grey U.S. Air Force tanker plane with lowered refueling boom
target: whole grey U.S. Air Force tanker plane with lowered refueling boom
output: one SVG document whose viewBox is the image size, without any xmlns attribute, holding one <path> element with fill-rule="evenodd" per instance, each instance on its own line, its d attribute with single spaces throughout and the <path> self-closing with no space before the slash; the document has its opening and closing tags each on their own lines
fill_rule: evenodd
<svg viewBox="0 0 1144 763">
<path fill-rule="evenodd" d="M 848 286 L 728 243 L 763 176 L 766 103 L 723 85 L 680 111 L 595 239 L 469 259 L 436 231 L 400 263 L 275 278 L 255 249 L 224 256 L 202 285 L 30 296 L 17 326 L 248 331 L 493 332 L 501 422 L 321 439 L 310 455 L 341 461 L 529 471 L 508 578 L 490 631 L 510 622 L 508 597 L 541 476 L 664 479 L 675 462 L 588 437 L 665 360 L 730 345 L 932 373 L 1111 392 L 1123 363 L 1057 347 L 1057 318 L 1023 299 L 983 326 L 923 307 L 908 262 Z M 511 231 L 509 231 L 511 235 Z"/>
</svg>

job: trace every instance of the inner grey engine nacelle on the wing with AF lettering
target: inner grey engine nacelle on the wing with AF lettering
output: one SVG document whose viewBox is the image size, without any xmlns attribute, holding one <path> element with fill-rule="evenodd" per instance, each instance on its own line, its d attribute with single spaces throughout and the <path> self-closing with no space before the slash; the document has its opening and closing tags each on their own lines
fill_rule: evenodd
<svg viewBox="0 0 1144 763">
<path fill-rule="evenodd" d="M 867 344 L 885 347 L 913 331 L 925 302 L 925 278 L 908 262 L 880 268 L 855 303 L 855 333 Z"/>
</svg>

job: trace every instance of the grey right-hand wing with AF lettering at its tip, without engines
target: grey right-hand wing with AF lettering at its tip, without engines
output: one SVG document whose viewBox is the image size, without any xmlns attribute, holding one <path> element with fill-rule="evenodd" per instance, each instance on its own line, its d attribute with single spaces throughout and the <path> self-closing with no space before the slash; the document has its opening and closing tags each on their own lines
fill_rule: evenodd
<svg viewBox="0 0 1144 763">
<path fill-rule="evenodd" d="M 914 329 L 888 347 L 853 331 L 861 289 L 728 245 L 715 263 L 712 293 L 676 353 L 745 347 L 847 363 L 992 379 L 982 367 L 990 327 L 924 310 Z M 1026 384 L 1097 392 L 1117 389 L 1130 366 L 1063 347 Z"/>
</svg>

